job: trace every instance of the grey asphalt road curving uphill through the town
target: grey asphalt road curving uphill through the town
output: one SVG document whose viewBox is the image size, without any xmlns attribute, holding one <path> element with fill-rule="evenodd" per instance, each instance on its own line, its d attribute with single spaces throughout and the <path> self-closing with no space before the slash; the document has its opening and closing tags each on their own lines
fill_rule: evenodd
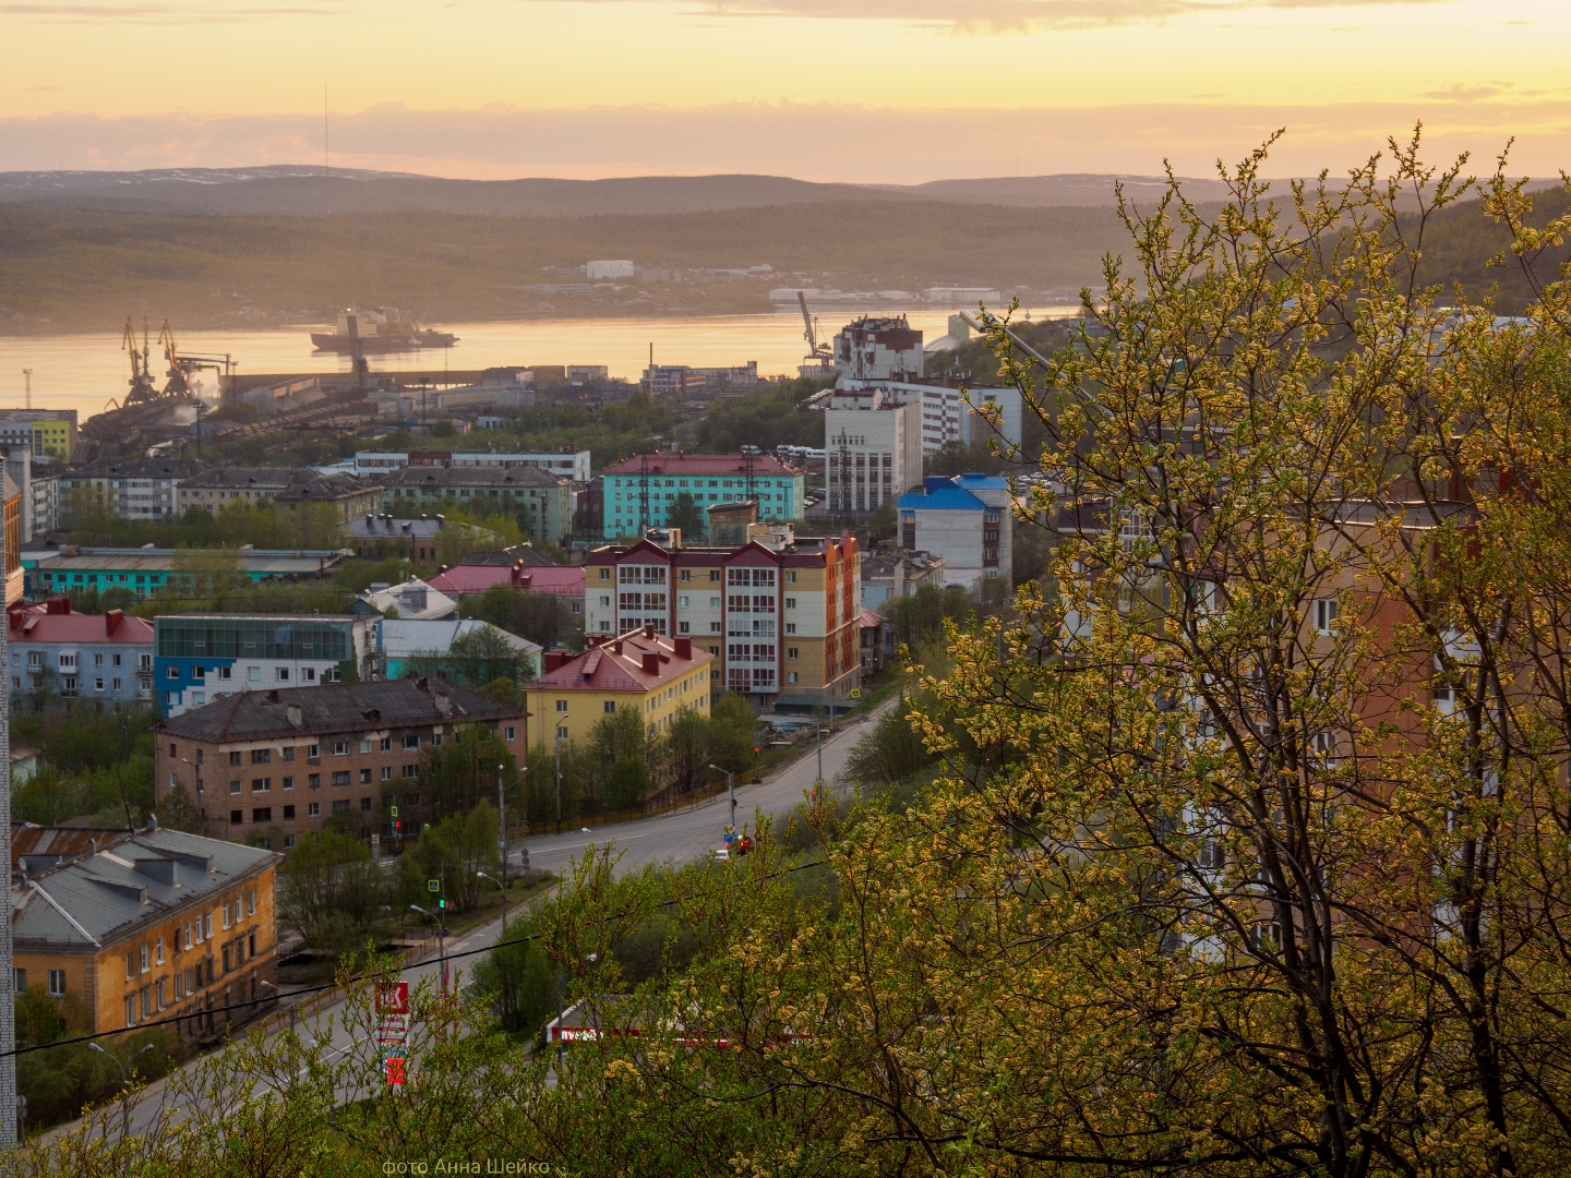
<svg viewBox="0 0 1571 1178">
<path fill-rule="evenodd" d="M 834 782 L 836 777 L 839 777 L 840 770 L 845 766 L 845 760 L 851 752 L 851 746 L 856 744 L 861 735 L 869 730 L 869 719 L 883 715 L 891 707 L 894 707 L 894 701 L 873 708 L 873 712 L 859 723 L 844 724 L 833 735 L 825 734 L 825 781 Z M 754 810 L 764 810 L 771 815 L 790 814 L 803 801 L 803 795 L 812 788 L 817 776 L 818 757 L 812 749 L 809 749 L 807 755 L 778 768 L 759 785 L 738 782 L 735 787 L 738 829 L 743 823 L 751 826 Z M 608 842 L 614 842 L 619 848 L 625 848 L 625 854 L 617 864 L 619 872 L 638 870 L 639 867 L 652 862 L 680 865 L 693 859 L 707 858 L 720 848 L 723 831 L 729 821 L 729 799 L 724 793 L 721 793 L 712 801 L 701 803 L 690 809 L 663 814 L 655 818 L 617 823 L 614 826 L 600 826 L 594 831 L 564 831 L 562 834 L 529 839 L 529 867 L 531 870 L 550 870 L 561 875 L 567 864 L 575 856 L 581 854 L 586 847 L 605 845 Z M 518 864 L 515 861 L 511 870 L 517 869 Z M 448 952 L 462 953 L 465 950 L 484 949 L 493 944 L 500 935 L 501 919 L 495 919 L 451 938 L 448 941 Z M 476 957 L 462 958 L 460 961 L 451 963 L 451 968 L 463 968 L 467 972 L 467 968 L 476 960 Z M 421 979 L 437 975 L 438 971 L 440 961 L 437 958 L 429 958 L 408 966 L 404 971 L 404 979 L 410 983 L 410 990 L 413 990 Z M 333 1027 L 330 1049 L 333 1052 L 350 1052 L 357 1048 L 368 1049 L 369 1044 L 358 1043 L 339 1024 L 338 1015 L 341 1008 L 342 1004 L 338 1002 L 324 1007 L 320 1012 L 320 1026 Z M 331 1016 L 331 1023 L 328 1023 L 328 1016 Z M 309 1023 L 317 1023 L 316 1016 L 313 1016 Z M 305 1027 L 302 1026 L 302 1033 L 303 1030 Z M 195 1066 L 195 1063 L 189 1063 L 185 1066 L 190 1068 Z M 148 1087 L 141 1099 L 137 1103 L 137 1107 L 130 1112 L 129 1132 L 141 1134 L 151 1126 L 163 1099 L 163 1081 Z M 69 1128 L 69 1125 L 61 1126 L 53 1132 Z"/>
</svg>

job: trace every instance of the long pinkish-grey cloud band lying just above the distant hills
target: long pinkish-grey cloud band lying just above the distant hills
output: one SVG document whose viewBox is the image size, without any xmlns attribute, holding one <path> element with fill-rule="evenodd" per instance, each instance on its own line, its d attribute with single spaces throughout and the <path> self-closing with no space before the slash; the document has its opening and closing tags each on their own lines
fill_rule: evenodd
<svg viewBox="0 0 1571 1178">
<path fill-rule="evenodd" d="M 762 173 L 811 181 L 921 184 L 963 176 L 1153 174 L 1172 160 L 1214 176 L 1276 127 L 1268 174 L 1340 174 L 1423 119 L 1425 154 L 1474 152 L 1488 170 L 1516 137 L 1511 168 L 1571 163 L 1571 101 L 1422 101 L 1329 107 L 1185 102 L 1093 108 L 897 110 L 850 104 L 696 108 L 410 110 L 335 115 L 333 166 L 468 179 Z M 941 152 L 921 145 L 944 145 Z M 47 115 L 0 118 L 0 171 L 259 166 L 322 162 L 316 115 Z"/>
</svg>

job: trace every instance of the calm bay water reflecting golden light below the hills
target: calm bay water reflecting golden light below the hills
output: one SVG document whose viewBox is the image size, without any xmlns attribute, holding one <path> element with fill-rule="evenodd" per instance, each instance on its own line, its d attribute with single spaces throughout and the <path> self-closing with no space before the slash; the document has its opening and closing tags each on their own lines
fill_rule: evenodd
<svg viewBox="0 0 1571 1178">
<path fill-rule="evenodd" d="M 1048 308 L 1042 314 L 1073 314 L 1075 308 Z M 886 314 L 886 313 L 884 313 Z M 906 311 L 911 327 L 932 341 L 946 335 L 950 311 Z M 851 313 L 822 316 L 826 336 L 851 319 Z M 151 324 L 154 335 L 157 324 Z M 493 364 L 606 364 L 613 377 L 636 379 L 649 363 L 654 344 L 657 364 L 716 368 L 759 361 L 759 372 L 795 374 L 807 350 L 801 317 L 793 313 L 764 316 L 709 316 L 693 319 L 556 319 L 517 324 L 432 324 L 459 336 L 451 349 L 399 352 L 369 357 L 372 372 L 430 372 L 441 368 L 478 369 Z M 311 331 L 331 327 L 265 330 L 179 331 L 182 355 L 223 357 L 239 361 L 239 372 L 347 372 L 349 357 L 316 352 Z M 163 357 L 152 346 L 152 371 L 163 383 Z M 445 353 L 445 355 L 443 355 Z M 22 369 L 33 369 L 33 405 L 74 408 L 80 419 L 104 412 L 112 397 L 126 393 L 130 363 L 119 347 L 119 331 L 0 338 L 0 408 L 22 407 Z M 201 379 L 209 394 L 217 391 L 211 372 Z"/>
</svg>

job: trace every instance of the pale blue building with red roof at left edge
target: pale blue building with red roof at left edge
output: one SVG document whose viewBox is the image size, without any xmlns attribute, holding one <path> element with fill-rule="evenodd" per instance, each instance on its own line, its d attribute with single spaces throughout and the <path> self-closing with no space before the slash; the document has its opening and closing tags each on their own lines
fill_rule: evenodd
<svg viewBox="0 0 1571 1178">
<path fill-rule="evenodd" d="M 107 704 L 151 702 L 152 636 L 152 622 L 119 609 L 74 614 L 69 597 L 11 609 L 13 697 L 47 691 Z"/>
</svg>

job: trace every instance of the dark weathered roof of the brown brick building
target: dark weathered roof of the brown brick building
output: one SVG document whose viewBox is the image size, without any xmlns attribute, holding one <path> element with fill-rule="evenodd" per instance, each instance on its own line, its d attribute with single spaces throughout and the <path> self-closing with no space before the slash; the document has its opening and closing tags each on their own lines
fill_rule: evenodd
<svg viewBox="0 0 1571 1178">
<path fill-rule="evenodd" d="M 226 743 L 423 724 L 517 719 L 520 710 L 440 679 L 322 683 L 278 691 L 239 691 L 165 719 L 157 732 Z"/>
</svg>

